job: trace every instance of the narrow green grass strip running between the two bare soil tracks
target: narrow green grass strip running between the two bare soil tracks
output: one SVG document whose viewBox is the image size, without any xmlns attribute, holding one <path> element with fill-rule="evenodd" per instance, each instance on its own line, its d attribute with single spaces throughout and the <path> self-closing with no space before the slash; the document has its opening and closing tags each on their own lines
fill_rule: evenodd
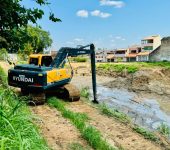
<svg viewBox="0 0 170 150">
<path fill-rule="evenodd" d="M 82 137 L 97 150 L 114 150 L 115 148 L 111 147 L 106 140 L 102 137 L 99 130 L 95 127 L 88 125 L 88 116 L 84 113 L 76 113 L 66 109 L 65 104 L 56 99 L 48 99 L 48 104 L 51 107 L 55 107 L 59 110 L 63 117 L 69 119 L 73 125 L 80 131 Z"/>
</svg>

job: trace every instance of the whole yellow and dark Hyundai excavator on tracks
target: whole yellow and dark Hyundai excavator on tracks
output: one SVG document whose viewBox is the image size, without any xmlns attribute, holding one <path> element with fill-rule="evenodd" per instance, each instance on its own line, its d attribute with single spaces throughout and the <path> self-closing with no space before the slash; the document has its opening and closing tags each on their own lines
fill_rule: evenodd
<svg viewBox="0 0 170 150">
<path fill-rule="evenodd" d="M 89 48 L 88 48 L 89 47 Z M 29 94 L 34 104 L 43 104 L 48 93 L 55 93 L 57 96 L 69 101 L 80 99 L 80 91 L 70 83 L 73 77 L 73 69 L 68 57 L 90 55 L 94 103 L 96 98 L 96 67 L 95 47 L 93 44 L 79 48 L 63 47 L 56 57 L 52 59 L 47 54 L 32 54 L 29 56 L 28 64 L 15 65 L 8 70 L 8 84 L 21 88 L 23 94 Z M 64 68 L 66 60 L 71 68 Z"/>
</svg>

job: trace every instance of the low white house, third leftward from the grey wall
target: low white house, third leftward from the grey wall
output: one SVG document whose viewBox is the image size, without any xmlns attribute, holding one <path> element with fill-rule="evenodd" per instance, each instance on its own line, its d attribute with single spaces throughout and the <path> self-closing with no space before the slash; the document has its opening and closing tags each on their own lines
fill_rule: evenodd
<svg viewBox="0 0 170 150">
<path fill-rule="evenodd" d="M 114 52 L 114 61 L 115 62 L 126 62 L 126 53 L 127 49 L 117 49 Z"/>
</svg>

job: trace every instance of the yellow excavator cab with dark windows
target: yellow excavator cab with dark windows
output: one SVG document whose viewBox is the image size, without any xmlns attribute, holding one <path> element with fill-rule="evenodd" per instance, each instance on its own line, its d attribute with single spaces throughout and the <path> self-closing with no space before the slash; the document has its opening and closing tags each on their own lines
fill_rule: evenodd
<svg viewBox="0 0 170 150">
<path fill-rule="evenodd" d="M 32 54 L 29 56 L 29 64 L 49 67 L 53 59 L 48 54 Z"/>
</svg>

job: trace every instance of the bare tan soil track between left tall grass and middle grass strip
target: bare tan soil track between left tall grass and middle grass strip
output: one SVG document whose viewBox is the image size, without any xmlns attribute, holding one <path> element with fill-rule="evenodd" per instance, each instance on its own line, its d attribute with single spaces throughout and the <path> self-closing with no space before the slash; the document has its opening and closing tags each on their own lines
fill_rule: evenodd
<svg viewBox="0 0 170 150">
<path fill-rule="evenodd" d="M 83 147 L 88 145 L 77 129 L 56 109 L 47 105 L 30 107 L 30 109 L 39 117 L 37 123 L 41 133 L 53 150 L 68 150 L 73 143 L 79 143 Z"/>
</svg>

